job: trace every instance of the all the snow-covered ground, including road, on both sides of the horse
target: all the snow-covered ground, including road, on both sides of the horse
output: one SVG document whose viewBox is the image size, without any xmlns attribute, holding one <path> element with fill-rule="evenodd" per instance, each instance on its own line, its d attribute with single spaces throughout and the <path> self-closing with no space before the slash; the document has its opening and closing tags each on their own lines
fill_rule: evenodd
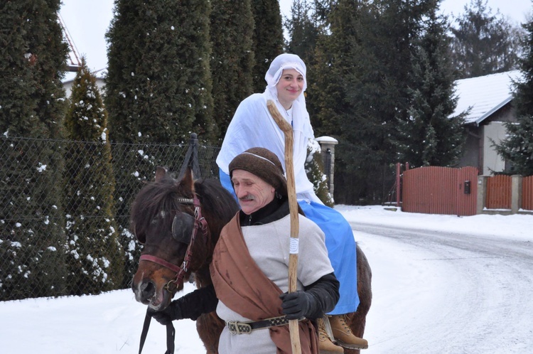
<svg viewBox="0 0 533 354">
<path fill-rule="evenodd" d="M 364 353 L 533 353 L 533 215 L 336 208 L 372 267 Z M 138 353 L 145 310 L 129 289 L 0 302 L 0 353 Z M 176 353 L 205 353 L 193 321 L 175 327 Z M 165 336 L 152 323 L 143 353 Z"/>
</svg>

